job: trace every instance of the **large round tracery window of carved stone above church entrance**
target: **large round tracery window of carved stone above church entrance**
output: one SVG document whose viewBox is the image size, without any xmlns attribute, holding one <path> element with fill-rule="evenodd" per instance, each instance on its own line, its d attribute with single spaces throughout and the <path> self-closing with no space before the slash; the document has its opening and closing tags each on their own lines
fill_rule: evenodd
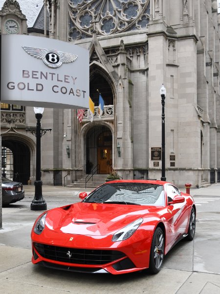
<svg viewBox="0 0 220 294">
<path fill-rule="evenodd" d="M 145 29 L 150 0 L 68 0 L 70 41 Z"/>
</svg>

